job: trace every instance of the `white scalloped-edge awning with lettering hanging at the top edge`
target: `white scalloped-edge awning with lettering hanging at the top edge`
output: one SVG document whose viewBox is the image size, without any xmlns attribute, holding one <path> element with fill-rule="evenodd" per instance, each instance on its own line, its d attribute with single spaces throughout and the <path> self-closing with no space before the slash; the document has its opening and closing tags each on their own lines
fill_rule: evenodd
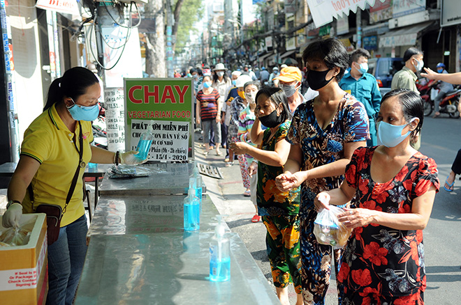
<svg viewBox="0 0 461 305">
<path fill-rule="evenodd" d="M 343 17 L 343 14 L 349 16 L 349 12 L 357 12 L 357 8 L 365 10 L 367 4 L 374 6 L 376 1 L 384 2 L 385 0 L 354 0 L 354 1 L 337 1 L 337 0 L 307 0 L 309 10 L 312 13 L 312 19 L 316 27 L 323 26 L 336 19 Z"/>
</svg>

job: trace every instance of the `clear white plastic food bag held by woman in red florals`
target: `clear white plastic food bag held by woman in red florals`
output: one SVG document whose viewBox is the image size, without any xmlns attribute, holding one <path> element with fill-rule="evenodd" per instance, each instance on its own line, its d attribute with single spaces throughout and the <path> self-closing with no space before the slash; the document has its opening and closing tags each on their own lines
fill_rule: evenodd
<svg viewBox="0 0 461 305">
<path fill-rule="evenodd" d="M 319 244 L 328 244 L 334 249 L 341 249 L 347 244 L 352 229 L 346 228 L 338 221 L 337 215 L 344 212 L 335 205 L 329 206 L 330 210 L 323 209 L 317 214 L 314 221 L 314 235 Z"/>
</svg>

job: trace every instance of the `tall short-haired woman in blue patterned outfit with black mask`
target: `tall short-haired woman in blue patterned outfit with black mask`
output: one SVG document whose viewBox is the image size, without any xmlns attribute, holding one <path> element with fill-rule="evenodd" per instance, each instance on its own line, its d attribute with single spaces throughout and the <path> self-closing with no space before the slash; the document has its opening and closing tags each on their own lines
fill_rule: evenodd
<svg viewBox="0 0 461 305">
<path fill-rule="evenodd" d="M 314 236 L 317 212 L 314 198 L 339 187 L 353 151 L 369 139 L 363 104 L 342 91 L 338 82 L 348 68 L 349 56 L 339 40 L 312 42 L 302 54 L 310 88 L 319 96 L 300 104 L 293 115 L 287 141 L 291 150 L 277 187 L 287 191 L 301 186 L 301 277 L 305 304 L 325 304 L 330 284 L 332 247 Z M 335 250 L 336 274 L 341 250 Z M 341 300 L 339 300 L 340 303 Z"/>
</svg>

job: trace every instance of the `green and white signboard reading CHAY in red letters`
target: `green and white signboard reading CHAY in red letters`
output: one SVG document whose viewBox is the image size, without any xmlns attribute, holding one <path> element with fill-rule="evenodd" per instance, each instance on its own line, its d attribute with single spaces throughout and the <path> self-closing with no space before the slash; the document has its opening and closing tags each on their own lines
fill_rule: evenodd
<svg viewBox="0 0 461 305">
<path fill-rule="evenodd" d="M 136 150 L 151 125 L 149 161 L 193 157 L 192 89 L 191 79 L 125 79 L 125 150 Z"/>
</svg>

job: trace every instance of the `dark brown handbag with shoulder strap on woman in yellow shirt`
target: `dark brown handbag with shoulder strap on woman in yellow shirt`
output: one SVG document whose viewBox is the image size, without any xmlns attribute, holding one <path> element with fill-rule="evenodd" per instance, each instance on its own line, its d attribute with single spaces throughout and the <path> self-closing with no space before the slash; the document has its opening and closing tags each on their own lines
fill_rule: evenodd
<svg viewBox="0 0 461 305">
<path fill-rule="evenodd" d="M 78 122 L 78 124 L 80 126 L 80 136 L 79 136 L 80 150 L 78 150 L 77 145 L 75 144 L 75 139 L 73 143 L 74 143 L 75 149 L 78 151 L 80 161 L 78 162 L 77 170 L 75 171 L 75 174 L 73 175 L 71 187 L 69 188 L 69 191 L 67 193 L 66 205 L 64 205 L 64 209 L 61 208 L 61 205 L 53 205 L 49 203 L 42 203 L 41 205 L 38 205 L 37 208 L 34 209 L 36 213 L 46 214 L 48 246 L 56 242 L 59 238 L 59 230 L 61 229 L 62 216 L 66 212 L 67 205 L 69 204 L 73 196 L 73 191 L 75 190 L 75 185 L 77 185 L 77 179 L 78 179 L 78 174 L 80 173 L 80 169 L 84 168 L 86 165 L 85 162 L 83 162 L 82 160 L 82 157 L 83 157 L 82 125 L 80 125 L 80 122 Z M 83 185 L 85 187 L 85 183 Z M 32 208 L 34 208 L 34 190 L 32 189 L 32 185 L 29 185 L 27 189 L 29 191 L 29 197 L 31 200 Z"/>
</svg>

